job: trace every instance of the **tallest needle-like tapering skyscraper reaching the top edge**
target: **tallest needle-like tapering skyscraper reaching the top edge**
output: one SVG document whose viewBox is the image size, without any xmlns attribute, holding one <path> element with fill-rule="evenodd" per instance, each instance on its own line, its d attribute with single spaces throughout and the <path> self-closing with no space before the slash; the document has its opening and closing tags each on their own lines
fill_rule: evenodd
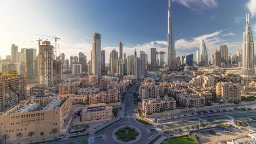
<svg viewBox="0 0 256 144">
<path fill-rule="evenodd" d="M 168 9 L 168 66 L 169 70 L 176 69 L 176 52 L 174 48 L 173 25 L 171 20 L 171 0 Z"/>
</svg>

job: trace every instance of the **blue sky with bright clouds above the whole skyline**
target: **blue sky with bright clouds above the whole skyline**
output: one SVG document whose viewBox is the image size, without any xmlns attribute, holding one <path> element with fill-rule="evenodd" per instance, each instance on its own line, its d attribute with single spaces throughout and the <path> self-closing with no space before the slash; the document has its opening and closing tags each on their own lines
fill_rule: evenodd
<svg viewBox="0 0 256 144">
<path fill-rule="evenodd" d="M 12 43 L 37 48 L 30 41 L 47 37 L 35 33 L 61 37 L 60 52 L 68 59 L 79 52 L 90 59 L 95 32 L 101 33 L 106 62 L 119 39 L 127 55 L 135 47 L 148 56 L 151 47 L 167 52 L 167 10 L 167 0 L 0 0 L 0 55 L 10 55 Z M 256 36 L 256 0 L 172 0 L 176 55 L 195 53 L 202 39 L 208 56 L 220 44 L 235 54 L 242 46 L 246 13 Z"/>
</svg>

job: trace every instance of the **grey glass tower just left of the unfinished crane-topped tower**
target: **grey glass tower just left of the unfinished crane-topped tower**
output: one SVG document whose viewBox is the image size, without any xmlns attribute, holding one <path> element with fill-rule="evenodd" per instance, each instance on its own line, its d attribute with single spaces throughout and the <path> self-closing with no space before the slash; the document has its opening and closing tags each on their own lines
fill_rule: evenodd
<svg viewBox="0 0 256 144">
<path fill-rule="evenodd" d="M 26 61 L 27 62 L 27 82 L 35 82 L 36 79 L 36 49 L 26 49 Z"/>
</svg>

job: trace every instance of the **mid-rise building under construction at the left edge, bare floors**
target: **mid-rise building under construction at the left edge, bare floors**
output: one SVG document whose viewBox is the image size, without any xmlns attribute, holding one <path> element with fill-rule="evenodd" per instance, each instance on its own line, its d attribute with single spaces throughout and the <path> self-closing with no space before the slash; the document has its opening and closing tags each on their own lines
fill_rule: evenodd
<svg viewBox="0 0 256 144">
<path fill-rule="evenodd" d="M 26 99 L 25 75 L 17 72 L 0 74 L 0 112 L 7 111 Z"/>
</svg>

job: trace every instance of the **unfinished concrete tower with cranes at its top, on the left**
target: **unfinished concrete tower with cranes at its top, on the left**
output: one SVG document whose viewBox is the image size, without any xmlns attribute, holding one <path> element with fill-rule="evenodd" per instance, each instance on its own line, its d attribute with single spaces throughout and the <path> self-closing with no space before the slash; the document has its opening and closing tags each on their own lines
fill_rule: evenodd
<svg viewBox="0 0 256 144">
<path fill-rule="evenodd" d="M 39 45 L 38 52 L 39 84 L 42 86 L 53 85 L 53 46 L 49 41 Z"/>
</svg>

